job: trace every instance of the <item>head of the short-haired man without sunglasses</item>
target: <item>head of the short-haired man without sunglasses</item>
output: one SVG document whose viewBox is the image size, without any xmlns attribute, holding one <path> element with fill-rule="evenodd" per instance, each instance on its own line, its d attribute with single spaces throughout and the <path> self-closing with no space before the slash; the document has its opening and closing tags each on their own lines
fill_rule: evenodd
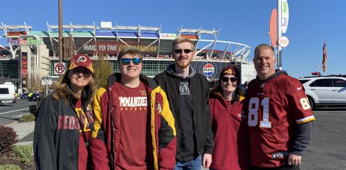
<svg viewBox="0 0 346 170">
<path fill-rule="evenodd" d="M 275 73 L 275 57 L 271 48 L 260 48 L 253 58 L 258 77 L 265 80 Z"/>
</svg>

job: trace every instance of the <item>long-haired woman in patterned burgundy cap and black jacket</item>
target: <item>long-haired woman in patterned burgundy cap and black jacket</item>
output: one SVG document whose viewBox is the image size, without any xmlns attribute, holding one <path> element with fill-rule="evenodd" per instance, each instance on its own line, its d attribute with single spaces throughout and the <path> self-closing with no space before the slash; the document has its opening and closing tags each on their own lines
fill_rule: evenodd
<svg viewBox="0 0 346 170">
<path fill-rule="evenodd" d="M 33 144 L 37 169 L 91 169 L 91 103 L 97 85 L 91 59 L 73 56 L 69 70 L 37 111 Z"/>
</svg>

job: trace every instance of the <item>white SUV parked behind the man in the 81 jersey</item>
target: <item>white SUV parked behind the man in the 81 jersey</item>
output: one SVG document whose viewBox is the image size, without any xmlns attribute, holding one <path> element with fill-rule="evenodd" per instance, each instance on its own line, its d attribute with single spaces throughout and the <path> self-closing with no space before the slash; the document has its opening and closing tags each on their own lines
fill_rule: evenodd
<svg viewBox="0 0 346 170">
<path fill-rule="evenodd" d="M 305 88 L 311 108 L 346 106 L 346 75 L 304 77 L 299 81 Z"/>
</svg>

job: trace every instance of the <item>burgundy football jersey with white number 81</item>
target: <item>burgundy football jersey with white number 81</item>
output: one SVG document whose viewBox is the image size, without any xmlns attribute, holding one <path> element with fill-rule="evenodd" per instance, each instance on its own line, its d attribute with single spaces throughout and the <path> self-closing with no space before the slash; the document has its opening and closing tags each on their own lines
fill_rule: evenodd
<svg viewBox="0 0 346 170">
<path fill-rule="evenodd" d="M 246 93 L 251 164 L 280 167 L 287 162 L 296 124 L 315 120 L 304 87 L 282 74 L 266 82 L 254 79 Z"/>
</svg>

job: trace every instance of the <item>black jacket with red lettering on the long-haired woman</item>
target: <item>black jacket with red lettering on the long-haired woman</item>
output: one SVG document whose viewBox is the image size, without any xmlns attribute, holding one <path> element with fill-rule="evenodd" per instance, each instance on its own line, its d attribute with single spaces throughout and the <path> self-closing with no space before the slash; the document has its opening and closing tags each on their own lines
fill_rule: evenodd
<svg viewBox="0 0 346 170">
<path fill-rule="evenodd" d="M 92 108 L 87 107 L 89 95 L 82 93 L 82 109 L 89 117 L 93 131 Z M 39 106 L 35 120 L 34 157 L 37 169 L 78 169 L 80 124 L 75 111 L 75 100 L 70 103 L 54 100 L 48 95 Z M 89 130 L 89 129 L 88 129 Z"/>
</svg>

